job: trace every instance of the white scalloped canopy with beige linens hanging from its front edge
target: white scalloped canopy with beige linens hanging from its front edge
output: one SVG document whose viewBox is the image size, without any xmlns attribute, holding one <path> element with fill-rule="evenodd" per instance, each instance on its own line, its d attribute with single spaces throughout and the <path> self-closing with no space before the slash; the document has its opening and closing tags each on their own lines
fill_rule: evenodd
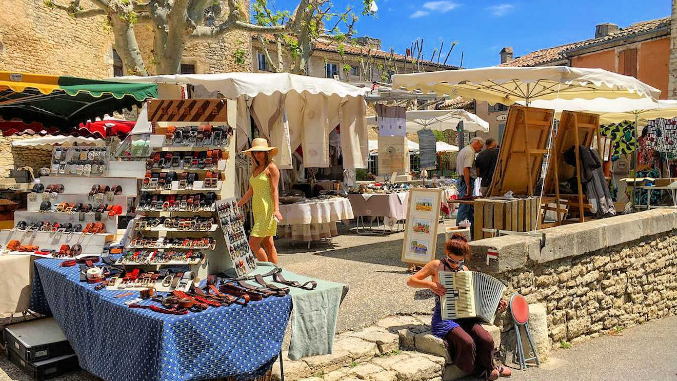
<svg viewBox="0 0 677 381">
<path fill-rule="evenodd" d="M 329 133 L 340 125 L 343 167 L 367 167 L 364 94 L 368 88 L 289 73 L 173 74 L 111 80 L 190 84 L 195 98 L 237 99 L 237 149 L 248 146 L 251 117 L 261 135 L 280 148 L 275 159 L 281 169 L 291 169 L 292 152 L 299 145 L 305 167 L 330 166 Z"/>
</svg>

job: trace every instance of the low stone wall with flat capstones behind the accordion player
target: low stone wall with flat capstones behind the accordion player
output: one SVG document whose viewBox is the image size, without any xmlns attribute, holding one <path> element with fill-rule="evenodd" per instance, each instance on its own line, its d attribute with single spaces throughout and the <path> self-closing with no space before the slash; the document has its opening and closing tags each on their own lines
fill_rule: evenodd
<svg viewBox="0 0 677 381">
<path fill-rule="evenodd" d="M 487 238 L 471 243 L 471 263 L 505 282 L 506 295 L 545 305 L 559 347 L 677 314 L 676 227 L 677 210 L 655 209 L 544 229 L 542 249 L 537 238 Z M 486 265 L 487 248 L 498 263 Z M 509 317 L 502 325 L 512 328 Z"/>
</svg>

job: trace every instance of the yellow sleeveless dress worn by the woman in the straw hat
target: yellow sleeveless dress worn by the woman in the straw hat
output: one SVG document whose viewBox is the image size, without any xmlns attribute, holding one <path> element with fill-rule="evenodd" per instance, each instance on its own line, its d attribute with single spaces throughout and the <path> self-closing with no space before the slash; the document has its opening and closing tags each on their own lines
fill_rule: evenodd
<svg viewBox="0 0 677 381">
<path fill-rule="evenodd" d="M 252 209 L 254 212 L 254 227 L 251 236 L 268 237 L 275 236 L 278 231 L 278 223 L 273 218 L 275 204 L 270 189 L 270 181 L 265 170 L 257 177 L 249 177 L 249 183 L 254 190 L 252 196 Z"/>
</svg>

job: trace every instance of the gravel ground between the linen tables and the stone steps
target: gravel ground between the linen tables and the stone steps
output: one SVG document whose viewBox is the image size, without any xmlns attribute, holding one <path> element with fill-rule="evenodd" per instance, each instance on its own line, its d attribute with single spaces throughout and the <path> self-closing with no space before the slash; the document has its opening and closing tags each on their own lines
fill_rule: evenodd
<svg viewBox="0 0 677 381">
<path fill-rule="evenodd" d="M 339 229 L 341 225 L 339 224 Z M 348 284 L 350 290 L 339 311 L 337 333 L 371 326 L 398 313 L 431 313 L 433 293 L 406 286 L 410 273 L 400 261 L 403 233 L 360 236 L 354 228 L 326 243 L 278 242 L 280 266 L 307 276 Z M 441 252 L 444 235 L 439 235 Z"/>
</svg>

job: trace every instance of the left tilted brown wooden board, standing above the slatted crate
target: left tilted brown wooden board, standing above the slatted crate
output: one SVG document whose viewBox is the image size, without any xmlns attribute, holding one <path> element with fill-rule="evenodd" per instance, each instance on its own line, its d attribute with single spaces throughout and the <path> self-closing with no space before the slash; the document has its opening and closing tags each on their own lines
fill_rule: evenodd
<svg viewBox="0 0 677 381">
<path fill-rule="evenodd" d="M 533 196 L 553 118 L 554 110 L 510 106 L 489 196 Z"/>
</svg>

